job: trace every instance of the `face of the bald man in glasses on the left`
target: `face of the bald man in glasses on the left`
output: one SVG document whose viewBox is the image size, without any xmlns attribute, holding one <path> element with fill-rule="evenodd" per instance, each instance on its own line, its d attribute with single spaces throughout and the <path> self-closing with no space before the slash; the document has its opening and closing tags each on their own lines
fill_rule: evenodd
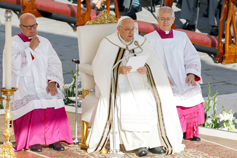
<svg viewBox="0 0 237 158">
<path fill-rule="evenodd" d="M 22 33 L 27 37 L 33 37 L 37 33 L 37 23 L 33 16 L 25 16 L 19 25 Z"/>
</svg>

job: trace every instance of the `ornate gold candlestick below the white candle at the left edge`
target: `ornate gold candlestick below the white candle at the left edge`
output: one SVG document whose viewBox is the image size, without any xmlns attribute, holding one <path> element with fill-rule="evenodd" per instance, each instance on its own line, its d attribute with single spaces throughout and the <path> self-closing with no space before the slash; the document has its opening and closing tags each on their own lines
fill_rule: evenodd
<svg viewBox="0 0 237 158">
<path fill-rule="evenodd" d="M 12 89 L 1 88 L 2 94 L 6 96 L 6 113 L 5 121 L 6 127 L 3 128 L 3 136 L 6 138 L 6 142 L 0 147 L 0 158 L 16 158 L 13 145 L 10 139 L 13 135 L 13 129 L 10 127 L 10 121 L 12 120 L 11 107 L 10 107 L 10 96 L 14 95 L 17 88 L 12 87 Z"/>
</svg>

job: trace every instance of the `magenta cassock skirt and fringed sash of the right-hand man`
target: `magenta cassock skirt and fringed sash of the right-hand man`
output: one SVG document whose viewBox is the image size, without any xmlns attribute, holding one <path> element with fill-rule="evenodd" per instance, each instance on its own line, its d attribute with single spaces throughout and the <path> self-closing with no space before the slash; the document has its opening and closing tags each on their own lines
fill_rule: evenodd
<svg viewBox="0 0 237 158">
<path fill-rule="evenodd" d="M 203 103 L 193 107 L 177 106 L 179 120 L 183 132 L 186 132 L 186 139 L 198 137 L 198 125 L 205 122 Z"/>
</svg>

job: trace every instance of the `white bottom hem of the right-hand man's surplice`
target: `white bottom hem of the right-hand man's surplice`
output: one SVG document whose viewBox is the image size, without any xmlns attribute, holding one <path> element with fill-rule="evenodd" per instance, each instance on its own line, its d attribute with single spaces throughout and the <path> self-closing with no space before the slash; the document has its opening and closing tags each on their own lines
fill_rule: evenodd
<svg viewBox="0 0 237 158">
<path fill-rule="evenodd" d="M 176 106 L 183 106 L 183 107 L 193 107 L 198 104 L 201 104 L 204 102 L 204 99 L 202 97 L 202 94 L 199 93 L 193 97 L 190 97 L 186 100 L 180 99 L 180 97 L 174 96 L 174 101 Z"/>
</svg>

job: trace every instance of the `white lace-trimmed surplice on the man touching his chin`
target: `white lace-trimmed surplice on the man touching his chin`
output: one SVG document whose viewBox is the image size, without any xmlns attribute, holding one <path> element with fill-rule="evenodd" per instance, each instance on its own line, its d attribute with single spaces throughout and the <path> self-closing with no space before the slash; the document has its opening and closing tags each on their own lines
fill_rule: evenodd
<svg viewBox="0 0 237 158">
<path fill-rule="evenodd" d="M 47 94 L 48 80 L 63 87 L 62 64 L 51 43 L 38 36 L 40 43 L 33 51 L 30 42 L 12 37 L 12 87 L 18 90 L 11 96 L 12 119 L 15 120 L 34 109 L 64 107 L 61 90 Z M 5 49 L 3 50 L 3 87 L 5 87 Z M 34 60 L 32 60 L 32 56 Z M 5 103 L 4 103 L 5 105 Z"/>
</svg>

